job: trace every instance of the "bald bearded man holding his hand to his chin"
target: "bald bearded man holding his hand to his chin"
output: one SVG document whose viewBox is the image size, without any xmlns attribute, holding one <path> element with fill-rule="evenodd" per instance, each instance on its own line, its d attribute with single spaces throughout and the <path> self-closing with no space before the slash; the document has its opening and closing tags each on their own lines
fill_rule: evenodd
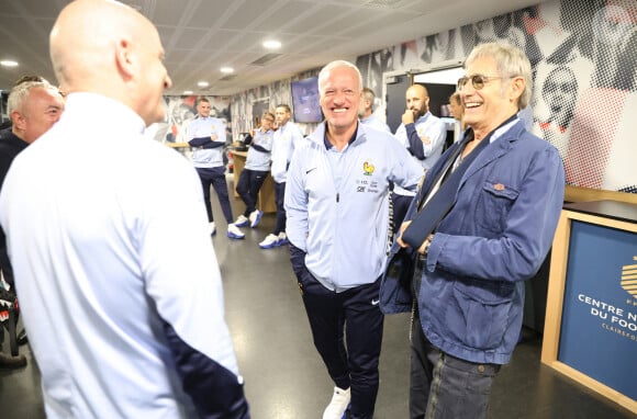
<svg viewBox="0 0 637 419">
<path fill-rule="evenodd" d="M 425 171 L 443 154 L 447 127 L 445 123 L 429 112 L 429 93 L 422 84 L 413 84 L 405 93 L 406 110 L 395 137 L 406 147 L 414 160 Z M 393 202 L 394 231 L 398 230 L 410 207 L 415 193 L 394 185 L 391 195 Z"/>
</svg>

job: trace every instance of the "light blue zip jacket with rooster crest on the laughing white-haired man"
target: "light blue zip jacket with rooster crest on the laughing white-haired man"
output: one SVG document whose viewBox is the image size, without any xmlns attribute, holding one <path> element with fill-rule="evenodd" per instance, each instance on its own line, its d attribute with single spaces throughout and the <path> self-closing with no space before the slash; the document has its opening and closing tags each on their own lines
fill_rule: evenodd
<svg viewBox="0 0 637 419">
<path fill-rule="evenodd" d="M 314 278 L 336 292 L 373 283 L 389 251 L 389 183 L 415 190 L 422 177 L 390 133 L 359 124 L 338 151 L 321 124 L 294 151 L 286 185 L 288 238 Z"/>
</svg>

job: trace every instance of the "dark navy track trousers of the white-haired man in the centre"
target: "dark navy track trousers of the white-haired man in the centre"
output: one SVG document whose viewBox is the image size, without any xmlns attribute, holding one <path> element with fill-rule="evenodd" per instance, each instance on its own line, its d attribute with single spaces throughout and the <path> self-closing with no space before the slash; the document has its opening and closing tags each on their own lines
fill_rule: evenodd
<svg viewBox="0 0 637 419">
<path fill-rule="evenodd" d="M 336 386 L 351 390 L 351 418 L 371 419 L 384 320 L 378 305 L 380 281 L 334 293 L 306 269 L 297 279 L 314 346 Z"/>
</svg>

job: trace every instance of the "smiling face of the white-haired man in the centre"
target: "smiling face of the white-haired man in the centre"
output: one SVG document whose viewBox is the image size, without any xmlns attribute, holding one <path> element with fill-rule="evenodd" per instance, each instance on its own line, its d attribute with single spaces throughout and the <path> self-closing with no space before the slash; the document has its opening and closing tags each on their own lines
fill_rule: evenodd
<svg viewBox="0 0 637 419">
<path fill-rule="evenodd" d="M 356 127 L 361 100 L 359 78 L 355 69 L 336 67 L 322 80 L 321 109 L 331 129 Z"/>
</svg>

